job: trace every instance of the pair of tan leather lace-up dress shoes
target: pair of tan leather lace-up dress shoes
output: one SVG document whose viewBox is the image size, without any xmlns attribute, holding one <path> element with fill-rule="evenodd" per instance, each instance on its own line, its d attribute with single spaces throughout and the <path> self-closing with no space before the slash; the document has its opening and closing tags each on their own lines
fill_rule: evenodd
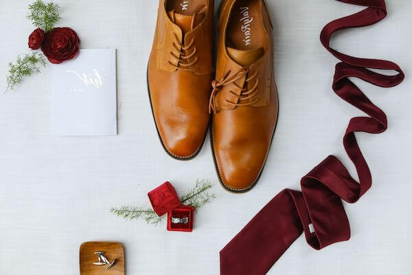
<svg viewBox="0 0 412 275">
<path fill-rule="evenodd" d="M 161 143 L 176 159 L 194 157 L 212 117 L 220 181 L 247 191 L 262 172 L 277 122 L 266 3 L 222 0 L 214 79 L 214 0 L 159 1 L 148 90 Z"/>
</svg>

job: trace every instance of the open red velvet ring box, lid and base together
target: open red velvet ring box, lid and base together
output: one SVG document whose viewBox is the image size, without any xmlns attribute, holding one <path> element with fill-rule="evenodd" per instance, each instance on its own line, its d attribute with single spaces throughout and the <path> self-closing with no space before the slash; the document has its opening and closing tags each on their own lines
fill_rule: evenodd
<svg viewBox="0 0 412 275">
<path fill-rule="evenodd" d="M 148 197 L 153 210 L 159 217 L 168 213 L 168 231 L 192 232 L 194 207 L 181 205 L 176 190 L 169 181 L 148 192 Z M 186 223 L 172 223 L 172 217 L 188 220 Z"/>
</svg>

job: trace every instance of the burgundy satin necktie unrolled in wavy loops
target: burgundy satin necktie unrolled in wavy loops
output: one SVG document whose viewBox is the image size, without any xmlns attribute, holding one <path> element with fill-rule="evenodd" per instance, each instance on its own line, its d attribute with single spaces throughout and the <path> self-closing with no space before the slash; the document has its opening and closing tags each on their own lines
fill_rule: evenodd
<svg viewBox="0 0 412 275">
<path fill-rule="evenodd" d="M 305 232 L 312 248 L 350 238 L 350 225 L 341 199 L 354 203 L 371 187 L 371 173 L 356 142 L 355 132 L 382 133 L 387 129 L 385 113 L 376 107 L 348 77 L 356 77 L 380 87 L 402 82 L 404 73 L 395 63 L 356 58 L 341 54 L 329 46 L 334 32 L 345 28 L 372 25 L 387 15 L 384 0 L 338 0 L 367 6 L 365 10 L 325 25 L 323 46 L 342 62 L 336 65 L 332 89 L 346 102 L 369 117 L 352 118 L 343 137 L 343 146 L 359 177 L 355 181 L 336 157 L 330 155 L 301 179 L 301 192 L 283 190 L 220 251 L 220 274 L 266 274 L 288 247 Z M 395 70 L 385 76 L 368 68 Z M 310 230 L 310 224 L 313 230 Z M 312 232 L 311 232 L 312 231 Z"/>
</svg>

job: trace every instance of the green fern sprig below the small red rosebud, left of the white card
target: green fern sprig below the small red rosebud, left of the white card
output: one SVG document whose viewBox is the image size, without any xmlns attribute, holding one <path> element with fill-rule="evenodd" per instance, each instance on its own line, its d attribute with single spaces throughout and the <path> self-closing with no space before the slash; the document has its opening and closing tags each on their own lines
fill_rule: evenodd
<svg viewBox="0 0 412 275">
<path fill-rule="evenodd" d="M 46 60 L 43 54 L 39 52 L 18 56 L 16 63 L 9 63 L 8 76 L 6 76 L 7 89 L 5 91 L 12 91 L 25 76 L 38 74 L 42 66 L 46 66 Z"/>
</svg>

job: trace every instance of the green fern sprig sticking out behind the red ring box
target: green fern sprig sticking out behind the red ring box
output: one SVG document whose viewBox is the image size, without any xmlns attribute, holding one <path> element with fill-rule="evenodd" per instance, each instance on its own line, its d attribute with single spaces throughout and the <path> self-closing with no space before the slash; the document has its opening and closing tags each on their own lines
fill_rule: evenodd
<svg viewBox="0 0 412 275">
<path fill-rule="evenodd" d="M 213 199 L 216 199 L 216 195 L 214 193 L 207 192 L 207 190 L 209 190 L 212 186 L 213 185 L 210 181 L 196 180 L 195 186 L 181 197 L 181 203 L 186 206 L 193 206 L 197 211 L 198 208 L 201 208 L 202 206 L 205 206 L 205 204 L 210 203 Z M 146 209 L 136 206 L 111 208 L 110 212 L 115 214 L 117 217 L 122 217 L 123 219 L 144 219 L 146 223 L 153 225 L 158 225 L 165 217 L 165 215 L 161 217 L 157 216 L 156 212 L 150 208 Z"/>
</svg>

